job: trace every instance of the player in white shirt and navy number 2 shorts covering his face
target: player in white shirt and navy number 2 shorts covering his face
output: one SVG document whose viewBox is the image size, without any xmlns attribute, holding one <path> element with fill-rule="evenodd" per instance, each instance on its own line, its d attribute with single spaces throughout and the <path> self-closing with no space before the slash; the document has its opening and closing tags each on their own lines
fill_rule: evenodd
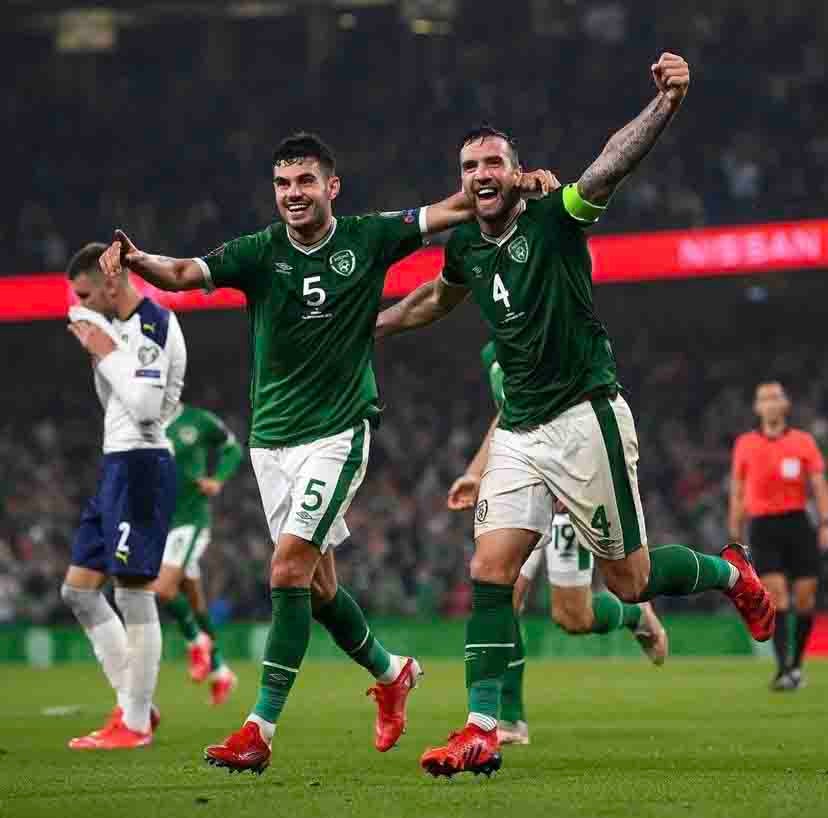
<svg viewBox="0 0 828 818">
<path fill-rule="evenodd" d="M 158 713 L 152 697 L 161 625 L 152 582 L 175 500 L 175 463 L 164 423 L 178 405 L 187 352 L 175 314 L 144 298 L 126 272 L 105 278 L 105 244 L 87 244 L 67 275 L 80 307 L 69 330 L 92 358 L 104 409 L 103 460 L 83 510 L 61 596 L 80 622 L 117 703 L 107 723 L 72 739 L 74 750 L 143 747 Z M 115 604 L 101 592 L 115 581 Z"/>
</svg>

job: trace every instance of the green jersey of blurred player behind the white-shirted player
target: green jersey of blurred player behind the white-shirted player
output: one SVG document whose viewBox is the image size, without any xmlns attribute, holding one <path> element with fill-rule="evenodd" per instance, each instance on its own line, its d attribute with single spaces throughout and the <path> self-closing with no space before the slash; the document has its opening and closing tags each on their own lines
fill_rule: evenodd
<svg viewBox="0 0 828 818">
<path fill-rule="evenodd" d="M 181 404 L 166 427 L 173 445 L 178 490 L 172 528 L 210 525 L 210 500 L 196 483 L 202 477 L 225 482 L 236 472 L 242 449 L 233 433 L 212 412 Z M 208 474 L 211 452 L 216 453 L 213 474 Z"/>
</svg>

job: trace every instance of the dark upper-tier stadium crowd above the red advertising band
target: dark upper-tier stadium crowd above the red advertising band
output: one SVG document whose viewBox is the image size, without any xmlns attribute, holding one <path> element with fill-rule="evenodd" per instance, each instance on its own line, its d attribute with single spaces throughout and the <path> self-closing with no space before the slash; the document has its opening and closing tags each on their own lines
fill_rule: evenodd
<svg viewBox="0 0 828 818">
<path fill-rule="evenodd" d="M 458 138 L 484 118 L 517 136 L 529 165 L 572 178 L 649 99 L 649 65 L 665 49 L 692 66 L 688 111 L 600 229 L 820 212 L 824 3 L 700 0 L 652 17 L 632 0 L 454 5 L 439 36 L 412 33 L 396 6 L 188 12 L 119 30 L 99 54 L 57 53 L 48 31 L 7 26 L 0 43 L 16 70 L 0 77 L 0 108 L 17 138 L 0 273 L 60 269 L 113 224 L 178 255 L 250 232 L 272 217 L 272 147 L 297 128 L 337 149 L 343 212 L 453 189 Z"/>
</svg>

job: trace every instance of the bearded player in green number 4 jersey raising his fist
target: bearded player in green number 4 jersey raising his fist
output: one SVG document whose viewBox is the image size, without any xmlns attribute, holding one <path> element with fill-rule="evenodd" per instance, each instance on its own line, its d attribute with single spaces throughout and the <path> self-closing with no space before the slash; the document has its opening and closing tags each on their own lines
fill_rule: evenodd
<svg viewBox="0 0 828 818">
<path fill-rule="evenodd" d="M 625 602 L 718 589 L 751 633 L 768 639 L 774 608 L 747 557 L 672 546 L 647 548 L 638 493 L 638 440 L 619 393 L 615 357 L 595 314 L 584 228 L 644 158 L 677 112 L 687 63 L 663 54 L 651 66 L 658 93 L 614 134 L 574 184 L 525 202 L 516 194 L 514 142 L 484 127 L 461 142 L 463 187 L 475 222 L 454 231 L 442 274 L 379 317 L 377 334 L 424 326 L 473 293 L 503 367 L 506 402 L 492 436 L 475 514 L 472 612 L 466 631 L 469 716 L 422 766 L 434 775 L 500 766 L 497 715 L 514 649 L 513 585 L 549 529 L 553 497 L 564 503 L 608 588 Z"/>
</svg>

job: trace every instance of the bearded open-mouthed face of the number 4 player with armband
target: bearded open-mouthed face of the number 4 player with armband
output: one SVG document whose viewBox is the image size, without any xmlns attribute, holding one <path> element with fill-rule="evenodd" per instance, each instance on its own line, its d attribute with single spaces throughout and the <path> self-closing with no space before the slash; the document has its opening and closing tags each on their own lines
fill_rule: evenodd
<svg viewBox="0 0 828 818">
<path fill-rule="evenodd" d="M 509 144 L 499 136 L 476 139 L 463 146 L 460 178 L 482 221 L 501 219 L 520 199 L 520 166 L 514 163 Z"/>
</svg>

